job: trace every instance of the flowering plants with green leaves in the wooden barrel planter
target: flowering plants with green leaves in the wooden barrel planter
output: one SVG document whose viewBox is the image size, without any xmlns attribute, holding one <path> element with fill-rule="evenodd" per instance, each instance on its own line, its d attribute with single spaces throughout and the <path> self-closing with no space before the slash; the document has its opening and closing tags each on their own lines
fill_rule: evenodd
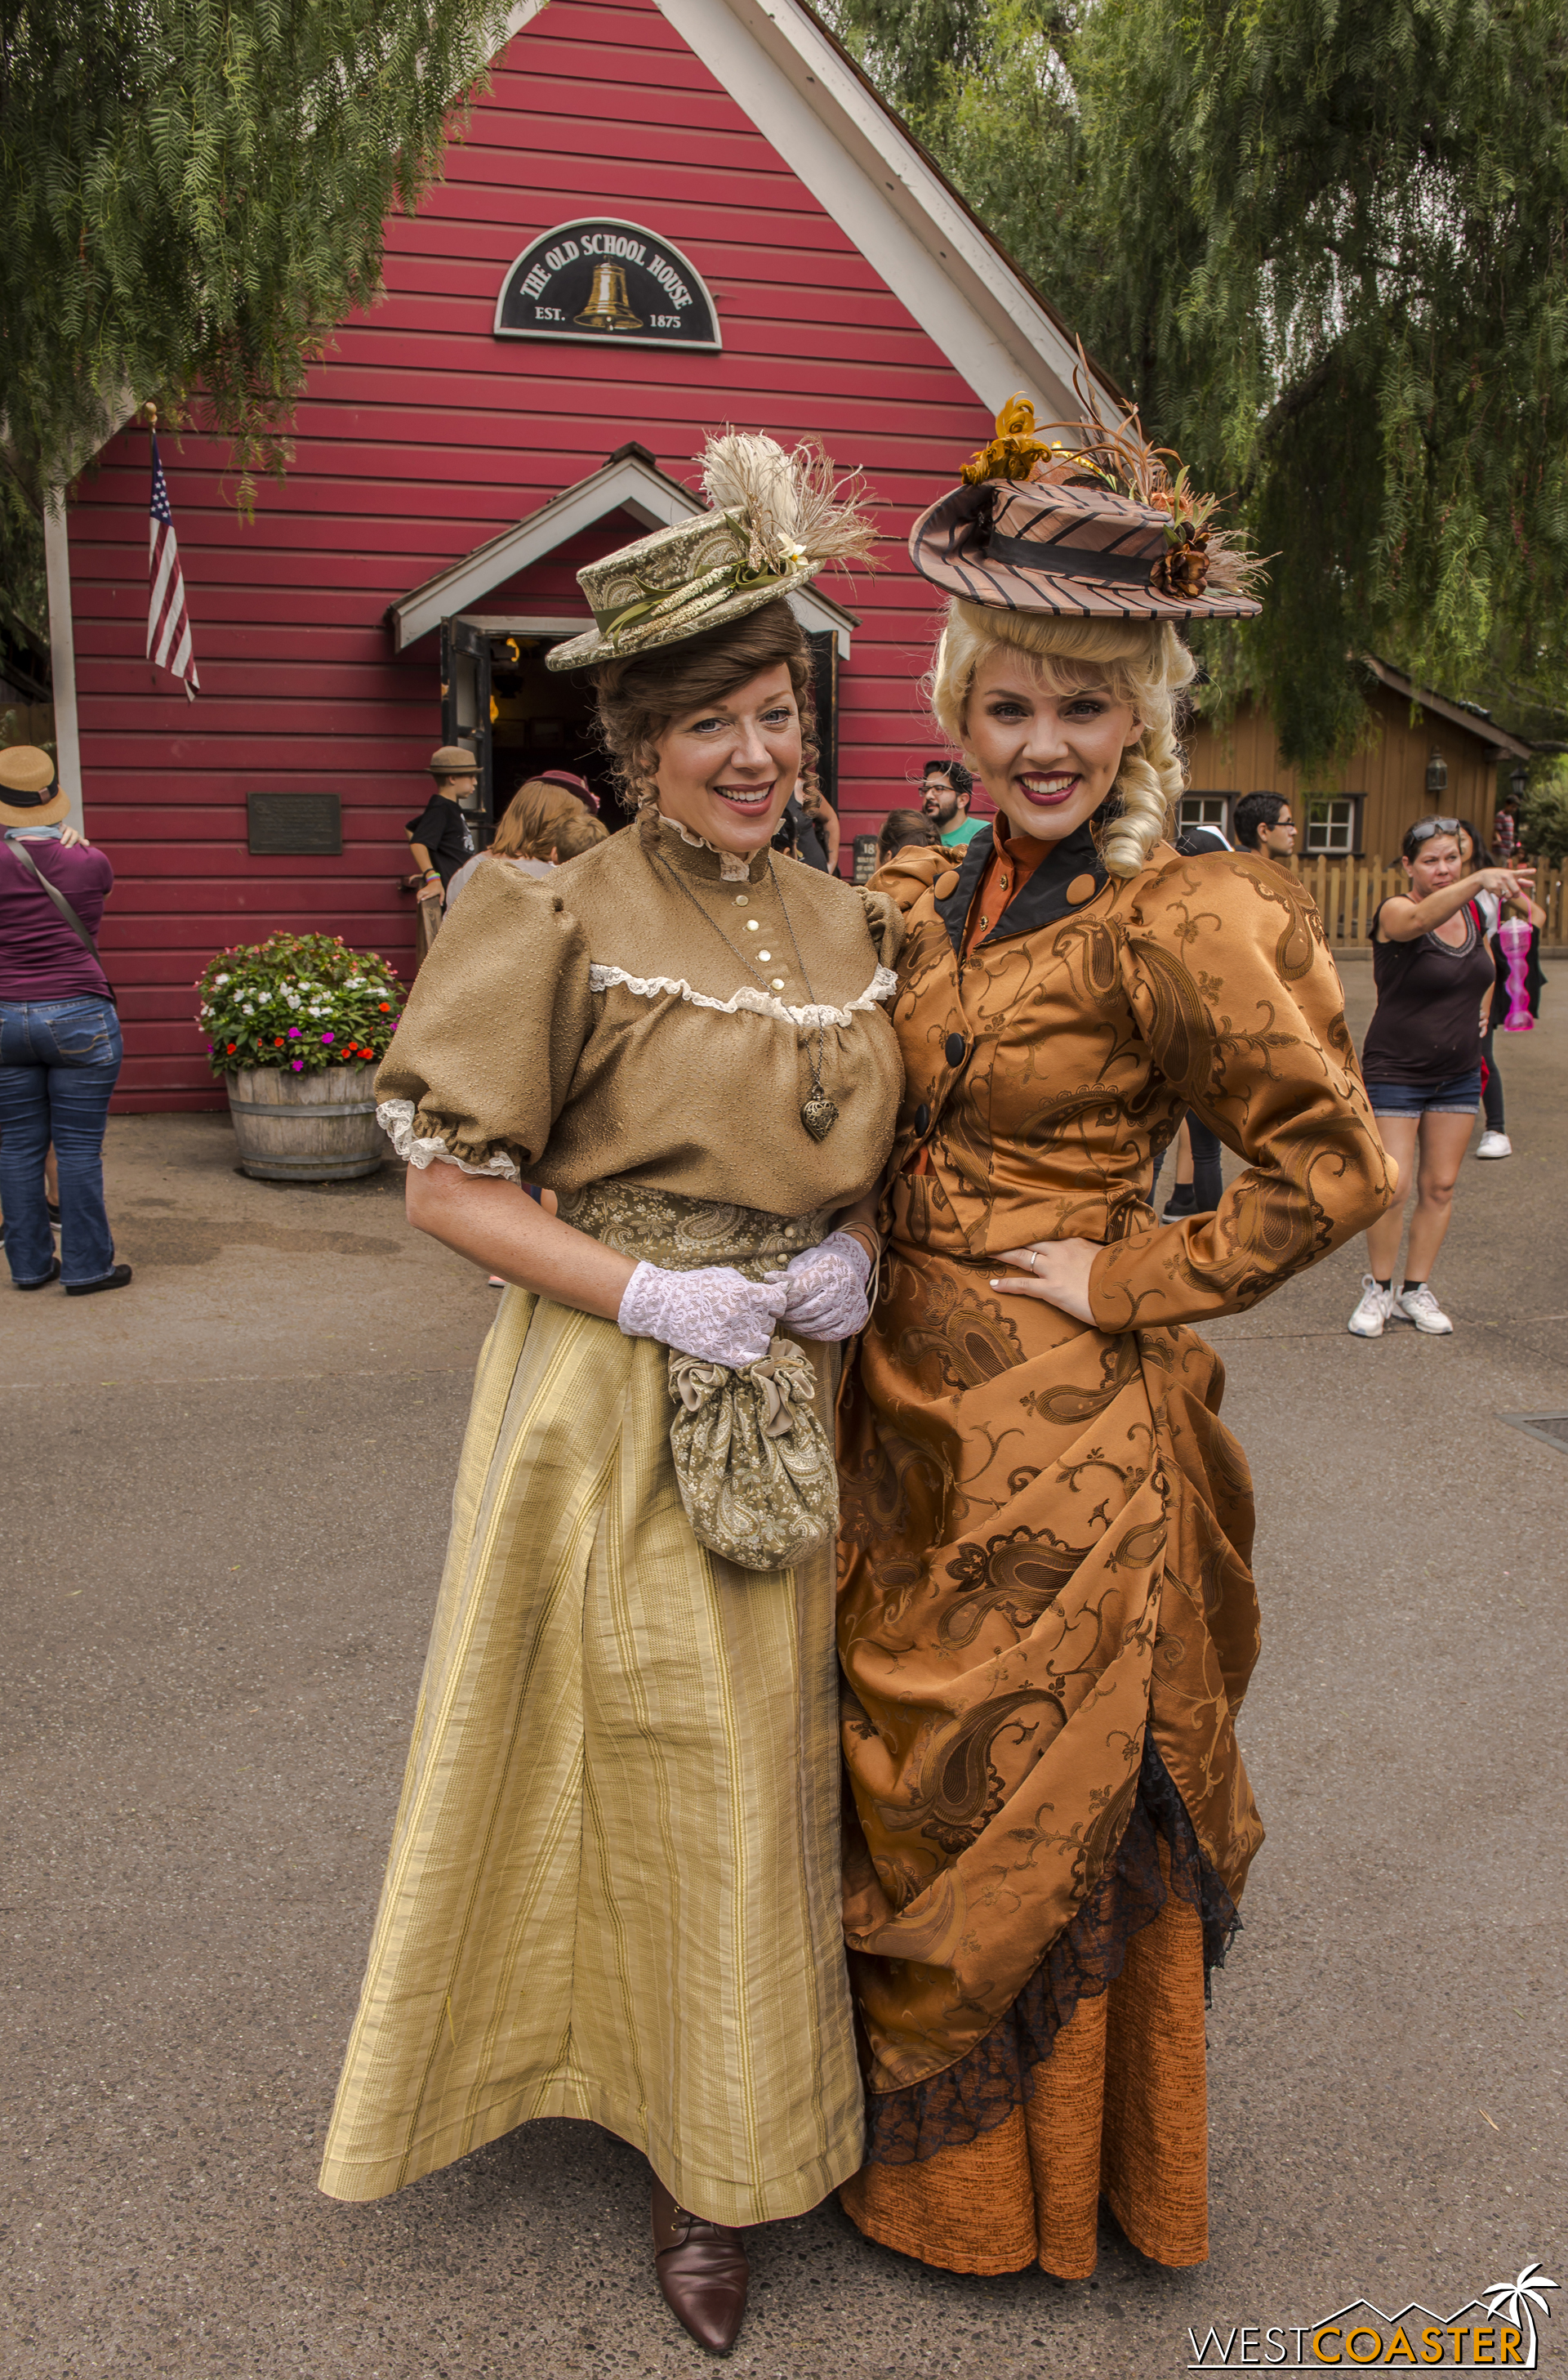
<svg viewBox="0 0 1568 2380">
<path fill-rule="evenodd" d="M 219 950 L 197 992 L 197 1026 L 217 1076 L 243 1066 L 290 1073 L 374 1066 L 402 1007 L 402 985 L 385 959 L 326 933 L 271 933 Z"/>
</svg>

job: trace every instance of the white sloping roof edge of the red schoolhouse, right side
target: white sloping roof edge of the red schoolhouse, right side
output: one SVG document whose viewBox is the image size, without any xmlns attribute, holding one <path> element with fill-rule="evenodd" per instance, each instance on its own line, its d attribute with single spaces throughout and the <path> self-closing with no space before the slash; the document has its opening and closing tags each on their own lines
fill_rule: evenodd
<svg viewBox="0 0 1568 2380">
<path fill-rule="evenodd" d="M 507 33 L 542 5 L 516 0 Z M 804 0 L 657 7 L 992 414 L 1021 388 L 1042 419 L 1078 419 L 1061 314 Z M 1097 364 L 1090 376 L 1118 409 L 1116 383 Z"/>
</svg>

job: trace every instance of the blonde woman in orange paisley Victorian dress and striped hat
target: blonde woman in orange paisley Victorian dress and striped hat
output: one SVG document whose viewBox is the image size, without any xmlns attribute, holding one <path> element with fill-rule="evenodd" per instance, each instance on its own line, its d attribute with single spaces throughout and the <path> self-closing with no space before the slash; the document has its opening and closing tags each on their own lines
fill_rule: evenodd
<svg viewBox="0 0 1568 2380">
<path fill-rule="evenodd" d="M 876 878 L 907 919 L 883 1292 L 840 1407 L 845 1909 L 868 2161 L 854 2223 L 961 2273 L 1095 2271 L 1104 2194 L 1206 2237 L 1204 1999 L 1263 1828 L 1237 1314 L 1394 1173 L 1311 900 L 1171 847 L 1175 621 L 1256 566 L 1135 426 L 1011 409 L 914 528 L 933 709 L 997 807 Z M 1009 436 L 1011 433 L 1011 436 Z M 1156 1226 L 1192 1107 L 1244 1159 Z"/>
</svg>

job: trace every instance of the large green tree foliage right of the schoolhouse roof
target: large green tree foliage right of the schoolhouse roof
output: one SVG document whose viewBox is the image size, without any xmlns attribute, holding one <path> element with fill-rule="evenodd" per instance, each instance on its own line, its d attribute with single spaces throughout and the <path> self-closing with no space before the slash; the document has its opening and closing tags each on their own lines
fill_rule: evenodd
<svg viewBox="0 0 1568 2380">
<path fill-rule="evenodd" d="M 1271 552 L 1199 643 L 1313 764 L 1354 654 L 1568 719 L 1568 0 L 840 0 L 838 26 Z"/>
</svg>

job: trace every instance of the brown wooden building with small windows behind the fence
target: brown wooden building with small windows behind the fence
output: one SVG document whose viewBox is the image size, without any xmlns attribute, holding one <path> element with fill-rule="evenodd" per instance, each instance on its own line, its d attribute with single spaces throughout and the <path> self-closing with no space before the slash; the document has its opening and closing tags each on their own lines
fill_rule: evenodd
<svg viewBox="0 0 1568 2380">
<path fill-rule="evenodd" d="M 1244 707 L 1228 728 L 1197 724 L 1187 738 L 1185 826 L 1230 835 L 1244 793 L 1282 793 L 1302 828 L 1299 852 L 1330 859 L 1390 862 L 1413 819 L 1437 809 L 1492 833 L 1499 759 L 1525 762 L 1530 745 L 1487 712 L 1416 685 L 1401 669 L 1375 662 L 1368 707 L 1373 731 L 1342 766 L 1302 778 L 1287 769 L 1261 707 Z"/>
</svg>

